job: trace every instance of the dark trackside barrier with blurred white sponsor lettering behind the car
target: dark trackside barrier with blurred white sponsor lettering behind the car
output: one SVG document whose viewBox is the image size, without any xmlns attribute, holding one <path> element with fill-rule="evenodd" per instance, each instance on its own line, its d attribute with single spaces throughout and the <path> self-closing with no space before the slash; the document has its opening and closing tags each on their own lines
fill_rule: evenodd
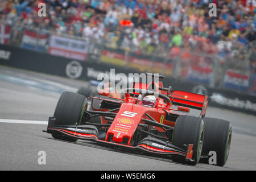
<svg viewBox="0 0 256 182">
<path fill-rule="evenodd" d="M 97 80 L 98 74 L 108 73 L 111 68 L 115 68 L 115 74 L 134 73 L 133 69 L 117 66 L 113 67 L 113 65 L 104 64 L 102 62 L 75 61 L 64 57 L 52 56 L 44 52 L 31 51 L 15 46 L 3 46 L 1 44 L 0 65 L 86 81 Z M 138 73 L 140 74 L 141 72 L 138 71 Z M 209 86 L 199 85 L 196 82 L 186 82 L 171 77 L 166 77 L 163 84 L 166 86 L 171 85 L 173 90 L 183 90 L 208 95 L 208 105 L 210 106 L 256 115 L 255 96 L 223 88 L 209 88 Z"/>
</svg>

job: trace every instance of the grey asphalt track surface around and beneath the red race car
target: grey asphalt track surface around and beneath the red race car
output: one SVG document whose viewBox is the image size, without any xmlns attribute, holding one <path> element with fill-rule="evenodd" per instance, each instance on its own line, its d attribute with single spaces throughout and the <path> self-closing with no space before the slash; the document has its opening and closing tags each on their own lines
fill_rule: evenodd
<svg viewBox="0 0 256 182">
<path fill-rule="evenodd" d="M 0 170 L 255 170 L 256 116 L 208 107 L 207 116 L 233 126 L 224 167 L 199 163 L 187 166 L 92 142 L 56 140 L 46 130 L 47 119 L 64 90 L 76 92 L 84 81 L 0 66 Z M 46 164 L 39 165 L 39 151 Z"/>
</svg>

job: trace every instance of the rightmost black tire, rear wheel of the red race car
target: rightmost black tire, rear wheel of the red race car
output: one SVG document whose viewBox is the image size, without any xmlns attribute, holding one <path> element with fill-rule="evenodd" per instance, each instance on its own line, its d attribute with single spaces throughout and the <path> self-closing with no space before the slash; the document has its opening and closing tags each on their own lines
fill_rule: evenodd
<svg viewBox="0 0 256 182">
<path fill-rule="evenodd" d="M 215 151 L 216 161 L 214 159 L 202 159 L 200 162 L 215 164 L 217 166 L 224 166 L 228 160 L 231 138 L 232 126 L 229 121 L 216 118 L 203 118 L 205 124 L 205 135 L 203 144 L 203 155 L 209 155 L 210 151 Z M 211 155 L 208 156 L 209 158 Z"/>
</svg>

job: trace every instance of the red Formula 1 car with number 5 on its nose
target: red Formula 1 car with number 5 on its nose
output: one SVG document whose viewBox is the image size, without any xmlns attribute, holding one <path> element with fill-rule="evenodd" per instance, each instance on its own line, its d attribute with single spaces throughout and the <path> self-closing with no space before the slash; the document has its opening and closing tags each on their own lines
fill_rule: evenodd
<svg viewBox="0 0 256 182">
<path fill-rule="evenodd" d="M 224 166 L 229 155 L 232 127 L 228 121 L 205 117 L 207 98 L 200 94 L 163 88 L 162 82 L 133 82 L 125 97 L 96 97 L 64 92 L 47 133 L 53 138 L 76 142 L 92 140 L 115 148 L 152 155 L 171 156 L 172 161 L 195 165 L 208 162 Z M 164 78 L 164 76 L 159 76 Z M 91 105 L 88 107 L 88 100 Z M 199 116 L 188 115 L 190 109 Z"/>
</svg>

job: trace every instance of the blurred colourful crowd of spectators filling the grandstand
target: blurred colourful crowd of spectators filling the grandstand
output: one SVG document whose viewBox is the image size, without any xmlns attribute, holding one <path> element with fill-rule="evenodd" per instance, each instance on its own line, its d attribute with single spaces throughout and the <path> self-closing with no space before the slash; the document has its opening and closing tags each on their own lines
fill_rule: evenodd
<svg viewBox="0 0 256 182">
<path fill-rule="evenodd" d="M 44 18 L 38 16 L 40 2 L 47 5 Z M 217 16 L 209 16 L 209 3 L 216 3 Z M 214 54 L 255 73 L 255 6 L 255 0 L 0 0 L 0 21 L 138 54 Z"/>
</svg>

